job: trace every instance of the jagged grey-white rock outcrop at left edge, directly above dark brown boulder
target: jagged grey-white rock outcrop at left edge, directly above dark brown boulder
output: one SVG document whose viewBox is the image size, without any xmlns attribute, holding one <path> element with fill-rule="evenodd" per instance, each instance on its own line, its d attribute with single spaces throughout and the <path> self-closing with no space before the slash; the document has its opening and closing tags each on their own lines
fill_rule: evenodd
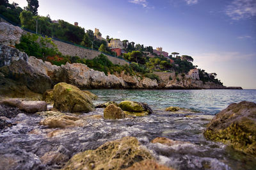
<svg viewBox="0 0 256 170">
<path fill-rule="evenodd" d="M 28 55 L 18 49 L 0 43 L 0 67 L 10 65 L 11 61 L 28 61 Z"/>
</svg>

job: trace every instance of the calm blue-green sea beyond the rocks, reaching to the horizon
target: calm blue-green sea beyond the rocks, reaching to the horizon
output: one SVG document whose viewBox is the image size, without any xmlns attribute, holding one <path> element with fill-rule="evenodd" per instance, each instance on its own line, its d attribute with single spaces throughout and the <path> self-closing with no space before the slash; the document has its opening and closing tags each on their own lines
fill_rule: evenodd
<svg viewBox="0 0 256 170">
<path fill-rule="evenodd" d="M 202 90 L 134 90 L 93 89 L 97 102 L 145 102 L 153 109 L 170 106 L 195 109 L 204 114 L 216 114 L 232 103 L 256 102 L 256 89 L 202 89 Z"/>
</svg>

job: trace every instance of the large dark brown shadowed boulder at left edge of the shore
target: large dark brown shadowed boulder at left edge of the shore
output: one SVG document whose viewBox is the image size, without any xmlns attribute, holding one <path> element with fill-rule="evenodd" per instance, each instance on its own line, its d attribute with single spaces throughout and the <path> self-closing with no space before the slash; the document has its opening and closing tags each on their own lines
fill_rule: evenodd
<svg viewBox="0 0 256 170">
<path fill-rule="evenodd" d="M 38 72 L 24 60 L 12 61 L 10 66 L 1 67 L 0 72 L 4 77 L 26 85 L 35 93 L 43 94 L 52 86 L 52 81 L 47 75 Z"/>
</svg>

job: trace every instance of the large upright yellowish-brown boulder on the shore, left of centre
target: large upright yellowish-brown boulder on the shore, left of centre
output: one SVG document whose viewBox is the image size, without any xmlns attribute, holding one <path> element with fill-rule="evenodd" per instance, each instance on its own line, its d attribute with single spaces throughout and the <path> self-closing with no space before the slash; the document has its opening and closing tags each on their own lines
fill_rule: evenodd
<svg viewBox="0 0 256 170">
<path fill-rule="evenodd" d="M 53 88 L 54 108 L 64 112 L 94 111 L 92 100 L 76 86 L 60 82 Z"/>
</svg>

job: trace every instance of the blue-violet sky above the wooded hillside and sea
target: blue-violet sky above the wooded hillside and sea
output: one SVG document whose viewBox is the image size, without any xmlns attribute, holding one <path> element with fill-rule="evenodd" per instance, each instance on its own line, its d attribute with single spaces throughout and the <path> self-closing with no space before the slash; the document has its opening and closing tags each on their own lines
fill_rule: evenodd
<svg viewBox="0 0 256 170">
<path fill-rule="evenodd" d="M 192 56 L 225 86 L 256 89 L 256 0 L 38 1 L 39 15 L 97 27 L 104 38 Z"/>
</svg>

